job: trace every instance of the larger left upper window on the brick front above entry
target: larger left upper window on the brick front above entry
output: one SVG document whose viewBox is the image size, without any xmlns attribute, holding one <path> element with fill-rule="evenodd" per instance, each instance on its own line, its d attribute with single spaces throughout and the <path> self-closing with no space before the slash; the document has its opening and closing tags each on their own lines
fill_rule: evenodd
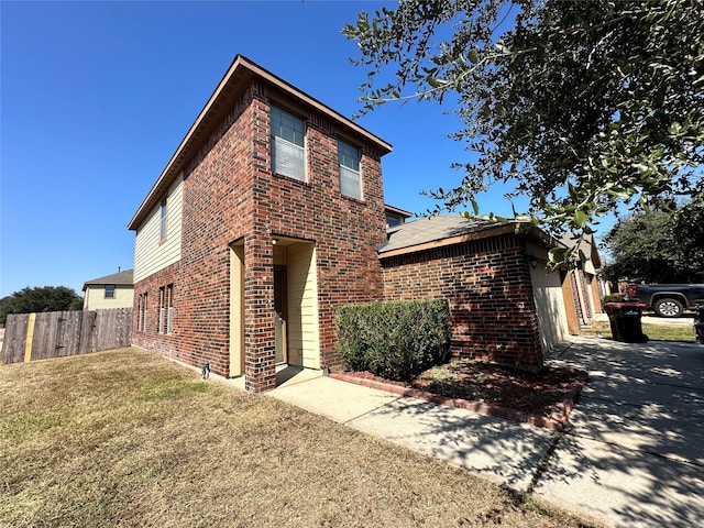
<svg viewBox="0 0 704 528">
<path fill-rule="evenodd" d="M 306 125 L 301 119 L 272 107 L 272 172 L 306 180 Z"/>
</svg>

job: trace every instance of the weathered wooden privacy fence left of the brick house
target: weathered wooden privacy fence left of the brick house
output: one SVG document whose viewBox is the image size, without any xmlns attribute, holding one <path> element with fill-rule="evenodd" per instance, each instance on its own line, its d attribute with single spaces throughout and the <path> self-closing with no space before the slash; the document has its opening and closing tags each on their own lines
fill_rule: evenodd
<svg viewBox="0 0 704 528">
<path fill-rule="evenodd" d="M 87 354 L 129 346 L 132 308 L 9 314 L 2 363 Z"/>
</svg>

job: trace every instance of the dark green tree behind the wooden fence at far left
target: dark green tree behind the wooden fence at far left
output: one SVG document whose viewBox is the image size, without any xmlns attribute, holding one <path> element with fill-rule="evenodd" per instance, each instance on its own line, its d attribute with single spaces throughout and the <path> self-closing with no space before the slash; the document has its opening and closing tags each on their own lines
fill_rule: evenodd
<svg viewBox="0 0 704 528">
<path fill-rule="evenodd" d="M 0 299 L 0 323 L 4 324 L 8 314 L 80 310 L 81 308 L 81 298 L 74 289 L 66 286 L 26 287 Z"/>
</svg>

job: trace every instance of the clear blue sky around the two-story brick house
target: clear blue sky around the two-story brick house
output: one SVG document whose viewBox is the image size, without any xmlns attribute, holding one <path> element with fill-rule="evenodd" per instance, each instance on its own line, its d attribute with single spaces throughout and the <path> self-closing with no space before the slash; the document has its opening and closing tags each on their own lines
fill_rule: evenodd
<svg viewBox="0 0 704 528">
<path fill-rule="evenodd" d="M 0 297 L 80 294 L 133 266 L 127 224 L 237 54 L 352 116 L 365 72 L 340 30 L 384 3 L 0 2 Z M 388 103 L 359 121 L 394 145 L 387 204 L 422 212 L 420 190 L 460 180 L 448 109 Z M 482 212 L 509 216 L 504 191 Z"/>
</svg>

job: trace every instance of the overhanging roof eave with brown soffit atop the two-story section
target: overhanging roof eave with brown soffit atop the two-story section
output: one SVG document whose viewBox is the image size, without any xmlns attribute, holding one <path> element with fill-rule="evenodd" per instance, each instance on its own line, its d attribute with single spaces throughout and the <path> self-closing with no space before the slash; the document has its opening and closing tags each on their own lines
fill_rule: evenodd
<svg viewBox="0 0 704 528">
<path fill-rule="evenodd" d="M 208 102 L 206 102 L 206 106 L 198 114 L 198 118 L 194 124 L 190 125 L 188 133 L 182 140 L 178 148 L 176 148 L 176 152 L 166 164 L 166 167 L 150 190 L 148 195 L 134 213 L 134 217 L 132 217 L 132 220 L 128 224 L 128 229 L 136 230 L 142 224 L 150 211 L 158 205 L 161 198 L 178 177 L 186 164 L 198 153 L 201 145 L 208 141 L 211 133 L 226 119 L 235 101 L 244 90 L 246 90 L 254 78 L 265 80 L 283 92 L 298 99 L 299 102 L 302 102 L 309 108 L 332 118 L 339 124 L 342 124 L 342 127 L 348 131 L 373 143 L 382 151 L 383 154 L 392 152 L 392 145 L 389 143 L 372 134 L 341 113 L 338 113 L 330 107 L 286 82 L 271 72 L 262 68 L 249 58 L 242 55 L 237 55 L 228 68 L 228 72 L 216 87 L 216 90 L 208 99 Z"/>
</svg>

